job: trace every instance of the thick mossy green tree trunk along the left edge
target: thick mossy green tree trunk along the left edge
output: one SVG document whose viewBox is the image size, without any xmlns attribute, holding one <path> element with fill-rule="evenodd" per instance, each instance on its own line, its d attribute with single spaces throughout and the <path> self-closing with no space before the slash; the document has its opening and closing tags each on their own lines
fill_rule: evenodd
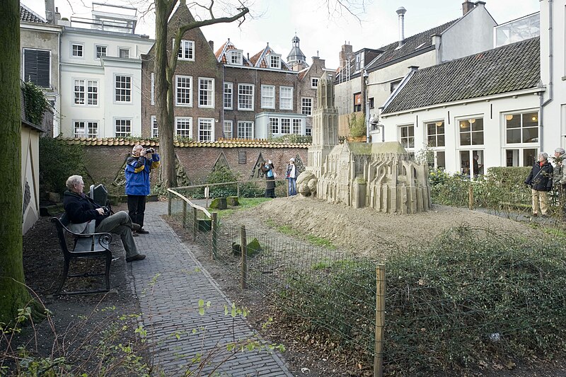
<svg viewBox="0 0 566 377">
<path fill-rule="evenodd" d="M 10 323 L 18 308 L 28 306 L 22 262 L 22 188 L 20 118 L 20 3 L 2 0 L 0 12 L 0 323 Z M 9 36 L 9 37 L 8 37 Z"/>
</svg>

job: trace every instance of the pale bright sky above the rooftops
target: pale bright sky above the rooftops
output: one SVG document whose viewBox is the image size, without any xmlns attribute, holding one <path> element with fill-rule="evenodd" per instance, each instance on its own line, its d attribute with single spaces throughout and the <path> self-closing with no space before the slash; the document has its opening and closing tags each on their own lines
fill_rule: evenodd
<svg viewBox="0 0 566 377">
<path fill-rule="evenodd" d="M 120 4 L 120 0 L 96 0 L 95 2 Z M 123 2 L 136 6 L 141 11 L 147 2 L 134 4 L 132 0 Z M 226 0 L 224 0 L 226 1 Z M 252 0 L 248 3 L 250 16 L 238 27 L 237 23 L 216 24 L 202 28 L 207 40 L 214 41 L 214 50 L 230 38 L 231 42 L 253 56 L 269 43 L 272 50 L 287 58 L 291 50 L 291 39 L 295 33 L 301 40 L 300 47 L 306 56 L 325 59 L 327 68 L 338 66 L 338 54 L 345 43 L 352 45 L 354 51 L 364 47 L 377 49 L 398 40 L 398 16 L 395 11 L 403 6 L 405 13 L 405 37 L 434 28 L 462 15 L 463 0 L 346 0 L 342 3 L 364 3 L 353 6 L 352 16 L 343 8 L 334 8 L 337 0 Z M 187 1 L 190 3 L 190 1 Z M 45 18 L 44 0 L 21 0 Z M 485 7 L 497 23 L 505 23 L 516 18 L 539 11 L 539 0 L 485 0 Z M 84 5 L 83 5 L 84 4 Z M 216 1 L 216 4 L 219 4 Z M 237 4 L 237 1 L 236 1 Z M 330 4 L 330 6 L 328 6 Z M 89 0 L 55 0 L 62 17 L 91 17 Z M 141 13 L 141 12 L 140 12 Z M 221 12 L 215 14 L 223 16 Z M 154 37 L 154 18 L 146 14 L 139 21 L 137 34 Z"/>
</svg>

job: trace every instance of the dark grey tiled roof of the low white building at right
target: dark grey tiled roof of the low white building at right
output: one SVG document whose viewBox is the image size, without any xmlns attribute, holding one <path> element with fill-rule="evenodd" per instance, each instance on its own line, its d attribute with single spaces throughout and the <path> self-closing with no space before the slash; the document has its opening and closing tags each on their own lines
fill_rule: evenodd
<svg viewBox="0 0 566 377">
<path fill-rule="evenodd" d="M 536 88 L 540 81 L 535 37 L 412 72 L 382 113 Z"/>
</svg>

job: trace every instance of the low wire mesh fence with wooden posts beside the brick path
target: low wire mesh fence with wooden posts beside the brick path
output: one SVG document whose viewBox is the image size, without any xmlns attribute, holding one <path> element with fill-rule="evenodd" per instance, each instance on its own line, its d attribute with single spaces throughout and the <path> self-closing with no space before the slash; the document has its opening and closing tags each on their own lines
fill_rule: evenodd
<svg viewBox="0 0 566 377">
<path fill-rule="evenodd" d="M 566 349 L 560 238 L 467 226 L 425 248 L 392 245 L 380 294 L 383 260 L 233 226 L 176 195 L 170 207 L 242 286 L 270 296 L 366 365 L 383 363 L 383 373 L 425 376 Z"/>
</svg>

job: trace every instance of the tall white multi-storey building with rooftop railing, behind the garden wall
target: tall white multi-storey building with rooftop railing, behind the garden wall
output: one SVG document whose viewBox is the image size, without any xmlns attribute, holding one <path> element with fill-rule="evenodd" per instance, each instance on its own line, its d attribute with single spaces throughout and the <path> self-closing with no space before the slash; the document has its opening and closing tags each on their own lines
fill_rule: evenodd
<svg viewBox="0 0 566 377">
<path fill-rule="evenodd" d="M 122 14 L 93 11 L 92 19 L 59 21 L 65 25 L 60 45 L 64 137 L 141 136 L 141 54 L 154 40 L 134 34 L 134 8 L 119 8 Z M 123 14 L 128 12 L 133 14 Z"/>
</svg>

